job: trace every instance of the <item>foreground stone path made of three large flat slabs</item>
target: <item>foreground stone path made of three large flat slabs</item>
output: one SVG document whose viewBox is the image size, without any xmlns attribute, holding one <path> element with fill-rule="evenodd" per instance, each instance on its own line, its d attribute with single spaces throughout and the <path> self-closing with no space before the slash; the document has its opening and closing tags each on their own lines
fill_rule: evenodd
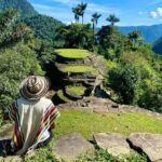
<svg viewBox="0 0 162 162">
<path fill-rule="evenodd" d="M 143 151 L 151 162 L 162 162 L 162 134 L 132 134 L 126 138 L 121 134 L 99 133 L 93 135 L 93 141 L 114 157 Z M 71 134 L 58 139 L 53 152 L 59 159 L 75 160 L 93 148 L 81 135 Z"/>
</svg>

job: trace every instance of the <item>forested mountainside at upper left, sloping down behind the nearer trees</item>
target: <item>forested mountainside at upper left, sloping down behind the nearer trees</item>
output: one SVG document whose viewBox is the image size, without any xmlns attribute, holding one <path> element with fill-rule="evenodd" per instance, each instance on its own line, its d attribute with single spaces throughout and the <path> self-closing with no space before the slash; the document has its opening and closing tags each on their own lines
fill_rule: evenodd
<svg viewBox="0 0 162 162">
<path fill-rule="evenodd" d="M 27 0 L 0 0 L 0 11 L 8 9 L 21 11 L 23 23 L 33 30 L 36 38 L 54 43 L 55 29 L 63 25 L 59 21 L 39 14 Z"/>
</svg>

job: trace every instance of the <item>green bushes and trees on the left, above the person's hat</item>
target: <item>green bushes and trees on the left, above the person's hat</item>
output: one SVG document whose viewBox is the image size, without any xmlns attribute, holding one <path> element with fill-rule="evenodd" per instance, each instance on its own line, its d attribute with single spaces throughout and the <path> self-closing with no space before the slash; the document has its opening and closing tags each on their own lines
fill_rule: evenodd
<svg viewBox="0 0 162 162">
<path fill-rule="evenodd" d="M 23 41 L 30 30 L 17 24 L 15 10 L 0 13 L 0 107 L 17 97 L 21 81 L 31 72 L 43 75 L 37 54 Z"/>
</svg>

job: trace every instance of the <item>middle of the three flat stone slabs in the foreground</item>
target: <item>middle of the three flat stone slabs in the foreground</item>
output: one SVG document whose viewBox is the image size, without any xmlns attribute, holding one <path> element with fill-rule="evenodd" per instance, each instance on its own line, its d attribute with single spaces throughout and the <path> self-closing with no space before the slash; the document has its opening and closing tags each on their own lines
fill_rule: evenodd
<svg viewBox="0 0 162 162">
<path fill-rule="evenodd" d="M 108 152 L 114 157 L 131 153 L 126 138 L 121 134 L 99 133 L 93 135 L 93 138 L 99 148 L 108 150 Z"/>
</svg>

